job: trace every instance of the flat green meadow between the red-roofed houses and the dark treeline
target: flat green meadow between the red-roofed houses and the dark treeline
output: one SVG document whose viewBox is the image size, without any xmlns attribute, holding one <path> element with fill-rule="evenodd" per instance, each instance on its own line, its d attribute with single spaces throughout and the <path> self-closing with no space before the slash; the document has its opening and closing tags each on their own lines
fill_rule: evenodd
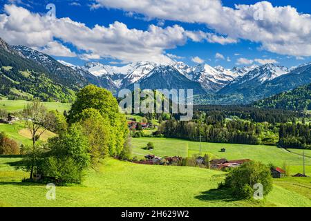
<svg viewBox="0 0 311 221">
<path fill-rule="evenodd" d="M 155 149 L 153 151 L 144 150 L 148 142 L 153 142 Z M 167 139 L 167 138 L 133 138 L 133 155 L 139 158 L 146 154 L 155 154 L 160 157 L 179 155 L 187 157 L 198 154 L 200 151 L 199 142 L 187 140 Z M 226 152 L 220 152 L 221 148 L 226 148 Z M 245 144 L 212 144 L 202 142 L 202 154 L 209 153 L 212 156 L 226 158 L 227 160 L 250 159 L 261 161 L 265 164 L 274 164 L 283 166 L 286 162 L 290 165 L 290 173 L 302 173 L 302 157 L 285 151 L 276 146 L 259 146 Z M 299 150 L 297 150 L 299 151 Z M 311 155 L 311 150 L 305 150 L 306 155 Z M 308 175 L 311 175 L 311 159 L 305 158 L 305 169 Z"/>
</svg>

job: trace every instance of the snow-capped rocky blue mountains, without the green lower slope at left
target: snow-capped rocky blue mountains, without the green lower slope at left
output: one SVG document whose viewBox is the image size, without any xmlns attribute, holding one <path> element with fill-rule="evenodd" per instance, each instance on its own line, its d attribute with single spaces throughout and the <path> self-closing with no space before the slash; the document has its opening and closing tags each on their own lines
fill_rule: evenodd
<svg viewBox="0 0 311 221">
<path fill-rule="evenodd" d="M 100 62 L 75 66 L 66 61 L 56 61 L 26 46 L 9 46 L 0 39 L 1 48 L 3 53 L 15 57 L 12 62 L 16 66 L 26 67 L 28 64 L 26 69 L 35 70 L 34 75 L 45 75 L 42 79 L 47 77 L 56 86 L 62 85 L 75 91 L 87 84 L 95 84 L 117 93 L 122 88 L 132 88 L 133 84 L 139 83 L 141 88 L 150 89 L 194 89 L 194 95 L 213 95 L 214 104 L 218 104 L 218 98 L 224 102 L 224 96 L 227 101 L 235 96 L 241 99 L 241 104 L 247 104 L 311 83 L 310 63 L 292 68 L 265 64 L 232 69 L 222 66 L 213 68 L 208 64 L 192 67 L 182 62 L 160 65 L 149 61 L 124 66 Z M 20 64 L 16 64 L 18 62 Z M 235 104 L 238 104 L 237 99 Z"/>
</svg>

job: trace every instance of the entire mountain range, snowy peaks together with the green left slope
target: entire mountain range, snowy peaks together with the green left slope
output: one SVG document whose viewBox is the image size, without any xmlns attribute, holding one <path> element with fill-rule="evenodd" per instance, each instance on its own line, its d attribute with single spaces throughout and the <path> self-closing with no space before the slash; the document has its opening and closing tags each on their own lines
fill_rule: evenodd
<svg viewBox="0 0 311 221">
<path fill-rule="evenodd" d="M 100 62 L 75 66 L 26 46 L 9 46 L 2 39 L 0 66 L 0 94 L 50 97 L 60 102 L 73 99 L 75 91 L 87 84 L 107 88 L 115 95 L 122 88 L 140 84 L 140 88 L 152 90 L 193 89 L 197 104 L 249 104 L 311 83 L 311 64 L 228 69 L 208 64 L 188 66 L 180 61 L 169 65 L 138 61 L 123 66 Z"/>
</svg>

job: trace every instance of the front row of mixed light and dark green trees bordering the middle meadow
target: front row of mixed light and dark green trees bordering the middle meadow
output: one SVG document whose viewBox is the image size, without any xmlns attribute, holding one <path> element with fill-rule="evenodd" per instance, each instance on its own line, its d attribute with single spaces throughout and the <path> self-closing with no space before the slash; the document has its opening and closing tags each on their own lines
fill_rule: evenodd
<svg viewBox="0 0 311 221">
<path fill-rule="evenodd" d="M 243 120 L 225 121 L 209 117 L 203 121 L 181 122 L 170 119 L 164 122 L 158 133 L 164 137 L 187 140 L 232 144 L 276 144 L 279 129 L 265 123 L 253 123 Z"/>
</svg>

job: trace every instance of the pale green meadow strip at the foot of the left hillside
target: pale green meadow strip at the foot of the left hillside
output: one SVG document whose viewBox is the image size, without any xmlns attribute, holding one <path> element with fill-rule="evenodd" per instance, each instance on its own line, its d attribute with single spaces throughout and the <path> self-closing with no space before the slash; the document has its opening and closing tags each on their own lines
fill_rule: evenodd
<svg viewBox="0 0 311 221">
<path fill-rule="evenodd" d="M 23 108 L 28 104 L 29 102 L 24 100 L 8 100 L 8 99 L 0 99 L 0 109 L 5 109 L 9 112 L 18 112 L 22 111 Z M 49 111 L 57 110 L 60 113 L 63 113 L 64 111 L 69 111 L 71 104 L 64 104 L 64 103 L 58 103 L 58 102 L 42 102 L 46 108 L 48 108 Z"/>
</svg>

